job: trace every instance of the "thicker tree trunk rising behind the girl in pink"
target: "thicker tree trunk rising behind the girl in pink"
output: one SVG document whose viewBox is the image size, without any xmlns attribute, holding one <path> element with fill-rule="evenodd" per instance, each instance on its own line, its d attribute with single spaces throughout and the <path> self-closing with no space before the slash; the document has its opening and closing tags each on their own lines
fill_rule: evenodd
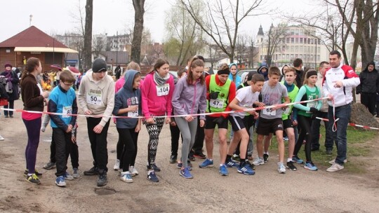
<svg viewBox="0 0 379 213">
<path fill-rule="evenodd" d="M 141 57 L 141 42 L 143 31 L 143 15 L 145 14 L 145 0 L 133 0 L 134 7 L 134 30 L 133 41 L 131 47 L 131 60 L 140 63 Z"/>
</svg>

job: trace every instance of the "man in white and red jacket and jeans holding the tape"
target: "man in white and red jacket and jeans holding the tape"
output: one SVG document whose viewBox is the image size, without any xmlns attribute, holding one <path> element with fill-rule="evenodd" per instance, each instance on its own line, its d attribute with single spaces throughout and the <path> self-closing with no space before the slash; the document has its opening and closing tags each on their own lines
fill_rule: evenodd
<svg viewBox="0 0 379 213">
<path fill-rule="evenodd" d="M 336 172 L 344 168 L 347 151 L 346 130 L 352 111 L 352 89 L 357 87 L 360 81 L 352 67 L 341 63 L 341 54 L 337 50 L 329 54 L 329 63 L 331 69 L 326 70 L 323 90 L 324 97 L 328 97 L 329 128 L 333 128 L 333 139 L 337 141 L 338 148 L 333 165 L 326 171 Z"/>
</svg>

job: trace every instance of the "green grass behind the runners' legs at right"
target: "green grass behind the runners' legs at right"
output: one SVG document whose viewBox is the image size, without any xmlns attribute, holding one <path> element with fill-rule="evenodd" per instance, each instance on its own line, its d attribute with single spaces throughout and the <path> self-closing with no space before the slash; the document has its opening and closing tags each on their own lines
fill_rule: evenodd
<svg viewBox="0 0 379 213">
<path fill-rule="evenodd" d="M 333 146 L 333 154 L 331 156 L 325 153 L 325 128 L 321 125 L 320 128 L 321 138 L 320 138 L 320 151 L 312 151 L 312 161 L 320 169 L 322 167 L 329 167 L 329 160 L 333 160 L 337 156 L 337 149 Z M 368 142 L 377 137 L 378 132 L 375 130 L 363 130 L 361 128 L 347 128 L 347 163 L 345 169 L 352 173 L 365 172 L 365 160 L 359 160 L 359 157 L 367 157 L 371 154 L 371 145 Z M 286 143 L 287 145 L 287 143 Z M 277 151 L 277 140 L 272 137 L 272 144 L 270 146 L 270 151 Z M 288 156 L 286 149 L 286 156 Z M 299 158 L 305 160 L 304 145 L 298 153 Z M 354 160 L 352 160 L 354 158 Z"/>
</svg>

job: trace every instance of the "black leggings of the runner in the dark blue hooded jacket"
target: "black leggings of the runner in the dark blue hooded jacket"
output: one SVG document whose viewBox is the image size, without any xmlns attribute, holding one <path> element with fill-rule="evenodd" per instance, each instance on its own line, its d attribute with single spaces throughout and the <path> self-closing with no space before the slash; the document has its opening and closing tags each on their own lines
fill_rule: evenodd
<svg viewBox="0 0 379 213">
<path fill-rule="evenodd" d="M 134 166 L 137 157 L 138 132 L 135 132 L 135 128 L 117 128 L 117 132 L 119 132 L 119 142 L 124 146 L 120 161 L 123 172 L 126 172 L 129 170 L 129 166 Z"/>
</svg>

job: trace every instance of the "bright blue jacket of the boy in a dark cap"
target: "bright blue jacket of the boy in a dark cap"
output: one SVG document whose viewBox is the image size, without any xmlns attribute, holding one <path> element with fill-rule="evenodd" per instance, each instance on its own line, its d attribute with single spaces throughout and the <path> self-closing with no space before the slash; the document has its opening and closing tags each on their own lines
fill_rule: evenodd
<svg viewBox="0 0 379 213">
<path fill-rule="evenodd" d="M 48 100 L 48 112 L 63 114 L 78 114 L 77 95 L 73 88 L 64 90 L 58 85 L 51 91 Z M 50 115 L 51 127 L 67 130 L 68 125 L 73 127 L 77 122 L 77 116 Z"/>
</svg>

